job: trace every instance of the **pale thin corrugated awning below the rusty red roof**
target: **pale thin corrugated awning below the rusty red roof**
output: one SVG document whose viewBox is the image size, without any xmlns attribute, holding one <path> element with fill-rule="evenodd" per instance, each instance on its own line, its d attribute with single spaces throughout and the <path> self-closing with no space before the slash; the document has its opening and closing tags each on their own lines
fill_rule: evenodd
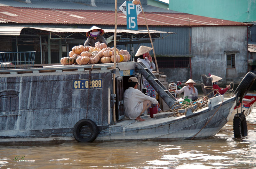
<svg viewBox="0 0 256 169">
<path fill-rule="evenodd" d="M 57 32 L 57 33 L 64 33 L 64 32 L 88 32 L 90 29 L 84 29 L 84 28 L 55 28 L 55 27 L 22 27 L 22 26 L 0 26 L 0 35 L 20 35 L 20 32 L 23 28 L 33 28 L 33 29 L 39 29 L 44 31 L 50 31 L 50 32 Z M 104 29 L 105 33 L 114 33 L 114 29 Z M 148 33 L 148 30 L 124 30 L 124 29 L 117 29 L 117 33 L 133 33 L 133 34 L 139 34 L 139 33 Z M 149 30 L 150 33 L 173 33 L 173 32 L 163 32 L 163 31 L 156 31 L 156 30 Z"/>
</svg>

